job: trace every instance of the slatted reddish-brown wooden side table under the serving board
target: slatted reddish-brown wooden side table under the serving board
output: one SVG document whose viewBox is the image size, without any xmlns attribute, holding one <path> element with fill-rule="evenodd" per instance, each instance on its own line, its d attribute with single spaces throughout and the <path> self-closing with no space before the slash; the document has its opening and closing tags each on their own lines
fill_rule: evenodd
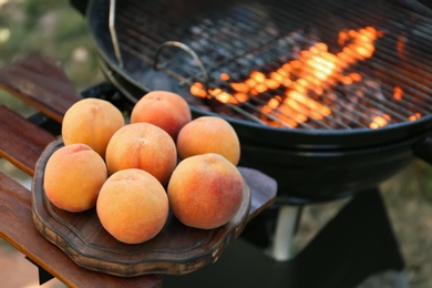
<svg viewBox="0 0 432 288">
<path fill-rule="evenodd" d="M 35 107 L 60 125 L 65 111 L 81 99 L 63 70 L 53 61 L 30 56 L 0 70 L 0 86 L 12 96 Z M 54 133 L 55 134 L 55 133 Z M 0 105 L 0 156 L 30 176 L 35 163 L 54 135 L 16 111 Z M 248 220 L 266 209 L 276 197 L 276 182 L 247 171 L 251 192 Z M 32 219 L 31 192 L 0 172 L 0 237 L 13 245 L 35 265 L 70 287 L 161 287 L 155 275 L 124 278 L 79 267 L 60 248 L 47 240 Z"/>
</svg>

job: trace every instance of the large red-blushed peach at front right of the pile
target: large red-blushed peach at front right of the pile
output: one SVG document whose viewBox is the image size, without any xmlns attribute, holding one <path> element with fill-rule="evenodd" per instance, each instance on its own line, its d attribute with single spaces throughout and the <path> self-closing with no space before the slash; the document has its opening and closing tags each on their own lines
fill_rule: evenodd
<svg viewBox="0 0 432 288">
<path fill-rule="evenodd" d="M 167 194 L 173 214 L 184 225 L 212 229 L 227 224 L 243 202 L 238 168 L 219 154 L 191 156 L 178 163 Z"/>
</svg>

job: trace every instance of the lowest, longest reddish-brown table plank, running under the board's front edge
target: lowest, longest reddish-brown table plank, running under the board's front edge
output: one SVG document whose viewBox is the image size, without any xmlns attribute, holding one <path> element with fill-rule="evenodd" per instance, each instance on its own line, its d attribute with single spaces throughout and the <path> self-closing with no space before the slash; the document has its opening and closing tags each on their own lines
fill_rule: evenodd
<svg viewBox="0 0 432 288">
<path fill-rule="evenodd" d="M 69 287 L 161 287 L 161 280 L 153 275 L 123 278 L 75 265 L 37 230 L 30 192 L 1 172 L 0 218 L 0 237 Z"/>
</svg>

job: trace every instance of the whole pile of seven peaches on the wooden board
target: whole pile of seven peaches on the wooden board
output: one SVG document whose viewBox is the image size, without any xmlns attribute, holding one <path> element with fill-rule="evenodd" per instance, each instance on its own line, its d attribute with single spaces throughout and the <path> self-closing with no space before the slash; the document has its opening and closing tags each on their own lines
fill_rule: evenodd
<svg viewBox="0 0 432 288">
<path fill-rule="evenodd" d="M 235 130 L 220 117 L 192 119 L 176 93 L 145 94 L 130 117 L 105 100 L 83 99 L 64 114 L 61 136 L 43 175 L 47 197 L 72 213 L 95 206 L 122 243 L 154 238 L 169 209 L 186 226 L 212 229 L 241 205 Z"/>
</svg>

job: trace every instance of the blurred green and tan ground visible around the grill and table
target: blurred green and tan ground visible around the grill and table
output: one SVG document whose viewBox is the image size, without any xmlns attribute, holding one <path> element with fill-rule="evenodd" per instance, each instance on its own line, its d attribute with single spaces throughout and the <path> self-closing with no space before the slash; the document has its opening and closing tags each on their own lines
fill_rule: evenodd
<svg viewBox="0 0 432 288">
<path fill-rule="evenodd" d="M 69 0 L 0 0 L 0 66 L 30 54 L 58 61 L 78 91 L 104 80 L 85 19 Z M 0 91 L 0 104 L 28 116 L 27 105 Z M 31 178 L 4 160 L 0 168 L 30 188 Z M 407 287 L 432 287 L 432 167 L 415 161 L 381 186 L 394 233 L 405 259 Z M 337 213 L 343 202 L 305 209 L 295 246 L 300 249 Z M 368 207 L 364 207 L 368 209 Z M 38 271 L 22 254 L 0 239 L 2 287 L 39 287 Z M 42 287 L 63 287 L 51 280 Z M 373 277 L 366 287 L 394 287 L 388 277 Z"/>
</svg>

